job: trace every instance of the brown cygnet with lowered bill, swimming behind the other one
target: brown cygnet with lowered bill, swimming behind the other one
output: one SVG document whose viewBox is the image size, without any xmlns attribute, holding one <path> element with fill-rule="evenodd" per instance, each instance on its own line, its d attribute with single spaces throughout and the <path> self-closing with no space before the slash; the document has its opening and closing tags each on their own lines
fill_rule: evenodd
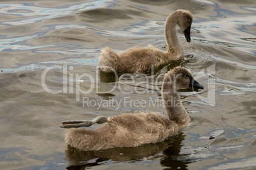
<svg viewBox="0 0 256 170">
<path fill-rule="evenodd" d="M 106 47 L 99 56 L 99 67 L 104 72 L 146 72 L 152 68 L 158 68 L 171 60 L 178 60 L 183 56 L 183 48 L 176 34 L 176 25 L 190 42 L 190 28 L 193 16 L 190 11 L 177 10 L 168 16 L 165 24 L 167 51 L 162 51 L 148 45 L 146 48 L 134 47 L 126 49 L 121 53 L 115 53 L 111 48 Z"/>
</svg>

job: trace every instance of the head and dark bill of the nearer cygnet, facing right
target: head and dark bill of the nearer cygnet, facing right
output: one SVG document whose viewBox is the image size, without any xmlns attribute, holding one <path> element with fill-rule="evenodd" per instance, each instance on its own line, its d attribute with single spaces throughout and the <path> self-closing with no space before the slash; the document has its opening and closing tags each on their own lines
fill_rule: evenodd
<svg viewBox="0 0 256 170">
<path fill-rule="evenodd" d="M 190 70 L 184 67 L 175 67 L 173 70 L 167 72 L 164 82 L 172 84 L 173 88 L 177 90 L 183 88 L 204 89 L 204 87 L 192 77 Z"/>
</svg>

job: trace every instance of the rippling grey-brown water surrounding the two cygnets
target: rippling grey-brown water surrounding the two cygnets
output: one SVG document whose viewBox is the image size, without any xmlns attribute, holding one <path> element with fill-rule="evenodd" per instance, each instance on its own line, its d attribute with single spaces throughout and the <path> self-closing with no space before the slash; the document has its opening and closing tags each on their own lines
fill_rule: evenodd
<svg viewBox="0 0 256 170">
<path fill-rule="evenodd" d="M 181 60 L 119 81 L 98 72 L 104 46 L 164 50 L 164 21 L 179 8 L 194 15 Z M 255 12 L 253 0 L 1 1 L 0 169 L 255 169 Z M 180 91 L 192 117 L 180 134 L 97 152 L 65 145 L 61 121 L 164 113 L 160 82 L 177 65 L 205 87 Z"/>
</svg>

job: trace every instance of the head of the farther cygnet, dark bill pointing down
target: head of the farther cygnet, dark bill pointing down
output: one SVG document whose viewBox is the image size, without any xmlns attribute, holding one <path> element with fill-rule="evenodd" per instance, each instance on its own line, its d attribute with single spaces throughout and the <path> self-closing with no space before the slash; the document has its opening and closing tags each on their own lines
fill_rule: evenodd
<svg viewBox="0 0 256 170">
<path fill-rule="evenodd" d="M 177 10 L 180 15 L 178 15 L 178 25 L 181 30 L 183 30 L 184 36 L 187 42 L 190 42 L 190 29 L 193 22 L 193 16 L 190 11 L 187 10 Z"/>
</svg>

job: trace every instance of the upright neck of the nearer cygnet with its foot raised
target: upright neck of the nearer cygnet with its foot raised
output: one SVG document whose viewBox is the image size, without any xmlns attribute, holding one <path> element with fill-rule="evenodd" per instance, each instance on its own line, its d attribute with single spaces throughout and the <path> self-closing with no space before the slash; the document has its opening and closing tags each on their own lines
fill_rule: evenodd
<svg viewBox="0 0 256 170">
<path fill-rule="evenodd" d="M 178 94 L 178 89 L 176 89 L 176 84 L 173 80 L 175 77 L 165 77 L 164 84 L 162 85 L 162 99 L 164 100 L 164 107 L 166 108 L 166 114 L 170 121 L 174 121 L 180 126 L 187 126 L 190 122 L 190 117 L 183 107 L 180 100 L 180 95 Z"/>
</svg>

